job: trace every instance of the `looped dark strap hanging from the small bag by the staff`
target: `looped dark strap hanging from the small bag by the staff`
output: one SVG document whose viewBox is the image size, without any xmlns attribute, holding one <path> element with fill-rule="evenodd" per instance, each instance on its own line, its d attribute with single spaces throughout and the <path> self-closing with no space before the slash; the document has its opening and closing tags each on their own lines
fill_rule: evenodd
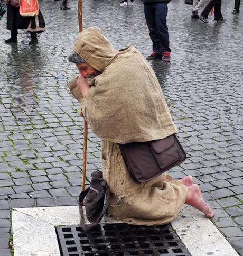
<svg viewBox="0 0 243 256">
<path fill-rule="evenodd" d="M 108 187 L 107 190 L 106 190 L 106 194 L 105 194 L 105 204 L 104 204 L 103 210 L 102 210 L 99 218 L 95 222 L 93 222 L 89 225 L 85 225 L 85 216 L 83 214 L 82 205 L 83 205 L 83 200 L 85 199 L 86 195 L 88 194 L 88 191 L 89 191 L 89 188 L 82 191 L 79 195 L 79 212 L 80 212 L 80 217 L 81 217 L 79 226 L 85 232 L 91 230 L 92 228 L 94 228 L 95 226 L 97 226 L 101 222 L 102 217 L 105 215 L 106 210 L 107 210 L 107 208 L 109 206 L 109 203 L 110 203 L 110 190 L 109 190 L 109 187 Z"/>
</svg>

